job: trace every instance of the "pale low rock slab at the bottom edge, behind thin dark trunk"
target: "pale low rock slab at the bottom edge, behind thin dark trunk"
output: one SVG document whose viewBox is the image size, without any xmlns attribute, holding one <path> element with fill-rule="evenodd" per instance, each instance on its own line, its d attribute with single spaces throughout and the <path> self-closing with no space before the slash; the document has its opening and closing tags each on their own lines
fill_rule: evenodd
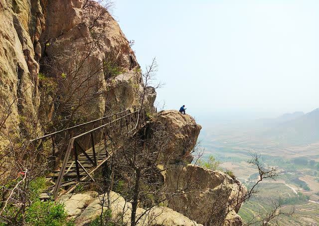
<svg viewBox="0 0 319 226">
<path fill-rule="evenodd" d="M 69 218 L 75 219 L 77 226 L 85 226 L 101 215 L 102 206 L 107 208 L 107 201 L 103 203 L 103 196 L 96 192 L 84 194 L 67 195 L 60 198 Z M 104 197 L 106 199 L 106 196 Z M 110 193 L 110 206 L 112 219 L 118 223 L 129 224 L 131 218 L 131 204 L 126 202 L 122 196 L 115 192 Z M 183 215 L 165 207 L 154 207 L 150 211 L 139 208 L 137 216 L 146 213 L 139 221 L 138 226 L 201 226 L 189 220 Z"/>
</svg>

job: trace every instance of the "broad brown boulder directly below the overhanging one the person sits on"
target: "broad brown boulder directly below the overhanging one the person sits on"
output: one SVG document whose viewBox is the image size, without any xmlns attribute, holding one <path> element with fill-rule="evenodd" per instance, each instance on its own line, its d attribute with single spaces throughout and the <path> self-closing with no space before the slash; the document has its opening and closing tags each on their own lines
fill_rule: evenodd
<svg viewBox="0 0 319 226">
<path fill-rule="evenodd" d="M 236 214 L 241 203 L 234 198 L 241 200 L 247 189 L 238 183 L 218 170 L 191 164 L 171 165 L 166 170 L 165 184 L 184 193 L 170 197 L 168 207 L 201 224 L 218 226 L 236 222 L 234 225 L 242 225 Z"/>
</svg>

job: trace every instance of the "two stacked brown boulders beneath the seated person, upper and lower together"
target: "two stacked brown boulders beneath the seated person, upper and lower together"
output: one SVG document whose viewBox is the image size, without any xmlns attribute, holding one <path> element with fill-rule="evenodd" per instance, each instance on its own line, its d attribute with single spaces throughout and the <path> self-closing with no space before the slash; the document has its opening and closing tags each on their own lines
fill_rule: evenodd
<svg viewBox="0 0 319 226">
<path fill-rule="evenodd" d="M 187 164 L 192 161 L 191 151 L 201 126 L 190 115 L 173 110 L 162 111 L 152 118 L 151 126 L 162 125 L 174 134 L 165 153 L 166 157 L 173 156 L 174 161 L 159 166 L 165 169 L 164 183 L 169 189 L 184 191 L 170 197 L 167 206 L 201 224 L 242 225 L 237 215 L 241 202 L 236 201 L 246 194 L 246 187 L 224 172 Z"/>
</svg>

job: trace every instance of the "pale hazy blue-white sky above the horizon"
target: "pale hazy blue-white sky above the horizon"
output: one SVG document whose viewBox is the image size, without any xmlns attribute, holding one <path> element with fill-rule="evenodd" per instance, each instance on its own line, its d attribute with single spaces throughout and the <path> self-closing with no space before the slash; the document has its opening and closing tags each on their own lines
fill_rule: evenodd
<svg viewBox="0 0 319 226">
<path fill-rule="evenodd" d="M 319 0 L 115 0 L 159 105 L 265 116 L 319 108 Z"/>
</svg>

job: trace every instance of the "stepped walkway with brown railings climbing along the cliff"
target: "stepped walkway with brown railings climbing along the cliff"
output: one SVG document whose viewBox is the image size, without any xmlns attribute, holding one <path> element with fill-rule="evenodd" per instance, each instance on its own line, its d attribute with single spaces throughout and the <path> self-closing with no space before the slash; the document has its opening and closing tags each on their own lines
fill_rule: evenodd
<svg viewBox="0 0 319 226">
<path fill-rule="evenodd" d="M 81 182 L 87 180 L 94 182 L 94 172 L 112 155 L 114 146 L 112 136 L 135 132 L 139 124 L 143 123 L 142 118 L 144 117 L 144 111 L 143 114 L 140 111 L 132 113 L 123 111 L 31 140 L 35 142 L 47 138 L 52 139 L 58 133 L 100 122 L 94 128 L 84 129 L 84 132 L 69 138 L 62 165 L 46 176 L 52 184 L 47 194 L 57 199 L 61 195 L 72 192 Z M 105 119 L 108 120 L 105 121 Z"/>
</svg>

